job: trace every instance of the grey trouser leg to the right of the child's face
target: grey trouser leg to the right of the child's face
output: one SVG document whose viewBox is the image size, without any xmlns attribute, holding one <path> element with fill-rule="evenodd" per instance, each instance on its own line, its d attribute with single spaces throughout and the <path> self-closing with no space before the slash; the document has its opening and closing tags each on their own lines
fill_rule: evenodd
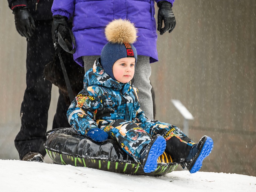
<svg viewBox="0 0 256 192">
<path fill-rule="evenodd" d="M 153 119 L 153 99 L 149 77 L 151 75 L 151 66 L 149 57 L 138 55 L 135 66 L 133 85 L 139 90 L 138 97 L 141 109 L 148 119 Z"/>
</svg>

